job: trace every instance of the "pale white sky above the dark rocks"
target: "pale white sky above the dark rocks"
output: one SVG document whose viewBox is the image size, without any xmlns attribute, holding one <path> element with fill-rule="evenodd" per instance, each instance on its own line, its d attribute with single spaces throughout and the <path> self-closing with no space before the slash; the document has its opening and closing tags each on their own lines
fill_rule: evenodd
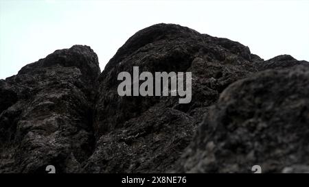
<svg viewBox="0 0 309 187">
<path fill-rule="evenodd" d="M 135 32 L 176 23 L 269 59 L 309 61 L 309 1 L 0 0 L 0 79 L 56 49 L 89 45 L 101 70 Z"/>
</svg>

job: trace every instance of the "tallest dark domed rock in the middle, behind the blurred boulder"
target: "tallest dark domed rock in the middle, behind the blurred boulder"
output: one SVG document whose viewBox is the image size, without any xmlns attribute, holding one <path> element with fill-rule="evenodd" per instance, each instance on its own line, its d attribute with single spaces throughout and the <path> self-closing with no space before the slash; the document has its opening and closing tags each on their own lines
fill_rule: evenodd
<svg viewBox="0 0 309 187">
<path fill-rule="evenodd" d="M 258 71 L 249 48 L 187 27 L 158 24 L 121 47 L 100 75 L 94 129 L 98 147 L 86 172 L 165 172 L 189 145 L 207 107 L 229 84 Z M 192 101 L 178 97 L 119 97 L 122 71 L 192 72 Z"/>
</svg>

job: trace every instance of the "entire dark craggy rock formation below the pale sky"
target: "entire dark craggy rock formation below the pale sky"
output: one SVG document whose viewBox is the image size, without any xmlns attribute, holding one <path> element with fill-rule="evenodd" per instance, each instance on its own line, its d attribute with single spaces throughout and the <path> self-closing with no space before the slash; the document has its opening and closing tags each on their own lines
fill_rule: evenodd
<svg viewBox="0 0 309 187">
<path fill-rule="evenodd" d="M 288 55 L 264 61 L 238 42 L 172 24 L 137 32 L 101 74 L 90 47 L 57 50 L 0 80 L 0 173 L 44 172 L 49 164 L 58 173 L 247 172 L 262 160 L 267 171 L 279 171 L 268 139 L 255 138 L 258 147 L 250 139 L 274 133 L 278 150 L 293 142 L 280 162 L 286 155 L 298 160 L 290 164 L 307 164 L 306 153 L 295 151 L 306 142 L 307 63 Z M 192 72 L 192 101 L 119 97 L 117 75 L 133 66 Z M 288 131 L 293 136 L 284 139 L 282 124 L 293 129 L 293 120 L 301 134 Z M 216 162 L 213 150 L 223 152 Z M 251 160 L 238 162 L 248 154 Z"/>
</svg>

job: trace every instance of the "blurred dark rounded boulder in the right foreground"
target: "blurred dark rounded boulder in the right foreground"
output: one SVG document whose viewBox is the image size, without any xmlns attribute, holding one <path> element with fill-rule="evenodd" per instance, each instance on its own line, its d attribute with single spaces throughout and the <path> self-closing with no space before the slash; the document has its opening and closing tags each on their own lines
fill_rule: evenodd
<svg viewBox="0 0 309 187">
<path fill-rule="evenodd" d="M 248 173 L 258 164 L 263 173 L 286 173 L 308 165 L 308 106 L 308 66 L 235 82 L 209 109 L 176 171 Z"/>
</svg>

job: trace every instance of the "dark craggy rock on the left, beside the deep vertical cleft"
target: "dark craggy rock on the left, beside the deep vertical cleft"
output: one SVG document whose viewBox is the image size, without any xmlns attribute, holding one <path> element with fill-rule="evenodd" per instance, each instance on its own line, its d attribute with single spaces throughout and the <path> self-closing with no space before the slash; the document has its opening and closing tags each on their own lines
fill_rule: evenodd
<svg viewBox="0 0 309 187">
<path fill-rule="evenodd" d="M 76 45 L 1 80 L 0 173 L 45 172 L 49 164 L 58 172 L 79 171 L 94 146 L 99 75 L 97 55 Z"/>
</svg>

